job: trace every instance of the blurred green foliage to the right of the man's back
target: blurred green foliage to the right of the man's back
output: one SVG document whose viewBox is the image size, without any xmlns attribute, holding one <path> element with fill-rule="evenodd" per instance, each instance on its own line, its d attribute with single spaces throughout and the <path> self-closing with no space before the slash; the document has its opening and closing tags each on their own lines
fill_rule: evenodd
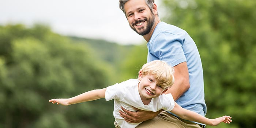
<svg viewBox="0 0 256 128">
<path fill-rule="evenodd" d="M 163 0 L 162 4 L 166 12 L 162 21 L 186 30 L 199 49 L 206 117 L 232 116 L 233 122 L 221 128 L 255 127 L 256 1 Z"/>
</svg>

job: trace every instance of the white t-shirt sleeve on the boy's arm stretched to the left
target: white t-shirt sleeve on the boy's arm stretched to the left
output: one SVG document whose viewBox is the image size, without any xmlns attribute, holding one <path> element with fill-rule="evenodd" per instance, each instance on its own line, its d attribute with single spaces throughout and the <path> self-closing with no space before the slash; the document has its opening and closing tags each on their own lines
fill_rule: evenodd
<svg viewBox="0 0 256 128">
<path fill-rule="evenodd" d="M 125 82 L 122 82 L 120 84 L 116 83 L 114 85 L 111 85 L 107 87 L 105 92 L 105 99 L 106 101 L 117 99 L 121 100 L 125 96 L 125 88 L 124 88 Z"/>
</svg>

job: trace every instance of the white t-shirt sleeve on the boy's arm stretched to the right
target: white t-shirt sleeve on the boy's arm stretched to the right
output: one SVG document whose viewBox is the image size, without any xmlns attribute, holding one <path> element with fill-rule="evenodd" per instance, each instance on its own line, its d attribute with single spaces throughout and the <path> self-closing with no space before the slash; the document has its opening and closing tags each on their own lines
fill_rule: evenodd
<svg viewBox="0 0 256 128">
<path fill-rule="evenodd" d="M 172 111 L 172 109 L 174 108 L 174 99 L 173 99 L 173 96 L 172 94 L 166 94 L 164 96 L 164 104 L 163 104 L 163 110 L 165 111 Z"/>
</svg>

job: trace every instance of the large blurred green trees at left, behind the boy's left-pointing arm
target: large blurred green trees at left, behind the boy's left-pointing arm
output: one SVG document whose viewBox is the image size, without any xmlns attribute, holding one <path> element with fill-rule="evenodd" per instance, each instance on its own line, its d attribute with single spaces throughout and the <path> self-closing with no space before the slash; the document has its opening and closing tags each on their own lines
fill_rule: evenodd
<svg viewBox="0 0 256 128">
<path fill-rule="evenodd" d="M 44 25 L 0 28 L 0 127 L 113 126 L 111 101 L 101 99 L 68 107 L 48 102 L 109 83 L 106 67 L 97 64 L 87 45 L 71 42 Z"/>
</svg>

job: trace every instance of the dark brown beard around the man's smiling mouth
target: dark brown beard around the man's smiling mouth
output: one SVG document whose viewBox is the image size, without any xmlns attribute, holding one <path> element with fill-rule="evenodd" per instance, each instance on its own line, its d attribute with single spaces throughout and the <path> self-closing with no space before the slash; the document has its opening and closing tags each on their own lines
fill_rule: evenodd
<svg viewBox="0 0 256 128">
<path fill-rule="evenodd" d="M 152 18 L 148 19 L 148 20 L 147 20 L 147 18 L 144 20 L 137 20 L 137 21 L 135 21 L 134 24 L 138 24 L 142 21 L 147 21 L 146 29 L 144 29 L 144 27 L 143 27 L 143 28 L 140 28 L 140 29 L 142 29 L 142 31 L 137 31 L 135 27 L 132 27 L 131 25 L 130 25 L 130 27 L 133 29 L 133 31 L 137 32 L 139 35 L 144 36 L 144 35 L 147 35 L 153 28 L 153 26 L 155 24 L 155 16 L 152 15 Z"/>
</svg>

